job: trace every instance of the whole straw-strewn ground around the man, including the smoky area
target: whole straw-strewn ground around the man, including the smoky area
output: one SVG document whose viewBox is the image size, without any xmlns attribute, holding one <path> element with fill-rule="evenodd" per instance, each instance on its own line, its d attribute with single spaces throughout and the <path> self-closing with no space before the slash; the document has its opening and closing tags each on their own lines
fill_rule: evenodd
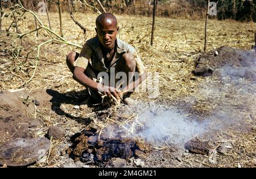
<svg viewBox="0 0 256 179">
<path fill-rule="evenodd" d="M 59 32 L 57 14 L 51 17 L 53 31 Z M 82 45 L 95 35 L 96 15 L 76 17 L 88 28 L 86 35 L 68 14 L 63 17 L 64 35 Z M 45 16 L 40 18 L 47 24 Z M 127 159 L 127 167 L 255 167 L 256 57 L 250 51 L 255 23 L 209 20 L 209 53 L 203 54 L 203 20 L 157 18 L 151 47 L 151 18 L 117 18 L 119 38 L 134 45 L 148 72 L 158 72 L 158 96 L 150 98 L 149 89 L 133 93 L 138 101 L 133 107 L 77 108 L 87 94 L 72 79 L 65 56 L 80 49 L 57 43 L 43 46 L 35 75 L 27 83 L 35 70 L 35 47 L 50 37 L 40 30 L 39 37 L 33 33 L 21 42 L 15 41 L 14 32 L 1 32 L 0 146 L 15 138 L 47 137 L 49 127 L 61 126 L 64 137 L 50 139 L 46 156 L 29 167 L 99 167 L 67 154 L 73 135 L 94 127 L 97 134 L 106 130 L 112 137 L 142 138 L 150 145 L 146 157 Z M 31 19 L 28 15 L 20 21 L 22 31 L 34 29 Z M 3 23 L 9 27 L 10 20 Z M 210 74 L 194 75 L 200 65 Z M 186 148 L 191 139 L 202 142 L 194 148 L 207 152 L 195 154 Z"/>
</svg>

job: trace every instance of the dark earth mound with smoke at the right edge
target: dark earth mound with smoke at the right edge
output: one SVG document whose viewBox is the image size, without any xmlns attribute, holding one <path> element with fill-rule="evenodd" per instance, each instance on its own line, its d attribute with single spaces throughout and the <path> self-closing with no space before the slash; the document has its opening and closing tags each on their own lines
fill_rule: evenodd
<svg viewBox="0 0 256 179">
<path fill-rule="evenodd" d="M 192 73 L 197 76 L 209 76 L 217 69 L 221 69 L 224 75 L 255 80 L 255 63 L 256 54 L 254 50 L 246 51 L 221 46 L 218 49 L 211 50 L 207 54 L 201 55 Z"/>
</svg>

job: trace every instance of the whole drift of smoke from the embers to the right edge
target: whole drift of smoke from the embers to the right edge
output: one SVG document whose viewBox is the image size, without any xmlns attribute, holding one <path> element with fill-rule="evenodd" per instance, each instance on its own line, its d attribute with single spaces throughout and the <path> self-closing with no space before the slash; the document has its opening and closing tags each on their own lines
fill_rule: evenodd
<svg viewBox="0 0 256 179">
<path fill-rule="evenodd" d="M 196 136 L 211 134 L 208 136 L 212 139 L 215 134 L 232 127 L 245 130 L 250 127 L 246 126 L 249 114 L 255 114 L 255 63 L 256 58 L 241 54 L 238 66 L 229 63 L 220 67 L 217 76 L 208 77 L 212 79 L 202 82 L 194 96 L 184 99 L 183 106 L 155 103 L 124 106 L 120 116 L 137 113 L 137 120 L 124 124 L 126 130 L 122 128 L 113 132 L 112 128 L 112 135 L 124 136 L 123 131 L 127 133 L 128 129 L 131 133 L 126 137 L 141 137 L 150 143 L 167 142 L 181 147 Z M 195 109 L 199 104 L 208 107 L 207 114 L 203 109 Z"/>
</svg>

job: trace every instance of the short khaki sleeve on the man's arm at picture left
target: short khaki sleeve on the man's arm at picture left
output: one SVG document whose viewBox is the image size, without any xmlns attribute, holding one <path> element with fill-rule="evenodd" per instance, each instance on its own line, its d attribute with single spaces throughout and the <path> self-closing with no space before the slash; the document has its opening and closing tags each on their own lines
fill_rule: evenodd
<svg viewBox="0 0 256 179">
<path fill-rule="evenodd" d="M 85 45 L 82 47 L 79 58 L 77 58 L 77 60 L 73 63 L 73 65 L 75 67 L 77 66 L 77 67 L 86 69 L 91 57 L 92 57 L 92 49 L 85 43 Z"/>
</svg>

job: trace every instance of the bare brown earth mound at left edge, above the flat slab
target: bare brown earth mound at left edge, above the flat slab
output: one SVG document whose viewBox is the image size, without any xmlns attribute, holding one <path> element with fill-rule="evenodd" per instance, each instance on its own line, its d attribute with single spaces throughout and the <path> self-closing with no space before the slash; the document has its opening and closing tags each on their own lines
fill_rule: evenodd
<svg viewBox="0 0 256 179">
<path fill-rule="evenodd" d="M 33 129 L 42 127 L 43 120 L 34 119 L 36 108 L 43 106 L 51 96 L 46 90 L 33 92 L 1 92 L 0 93 L 0 144 L 9 139 L 32 138 Z"/>
</svg>

